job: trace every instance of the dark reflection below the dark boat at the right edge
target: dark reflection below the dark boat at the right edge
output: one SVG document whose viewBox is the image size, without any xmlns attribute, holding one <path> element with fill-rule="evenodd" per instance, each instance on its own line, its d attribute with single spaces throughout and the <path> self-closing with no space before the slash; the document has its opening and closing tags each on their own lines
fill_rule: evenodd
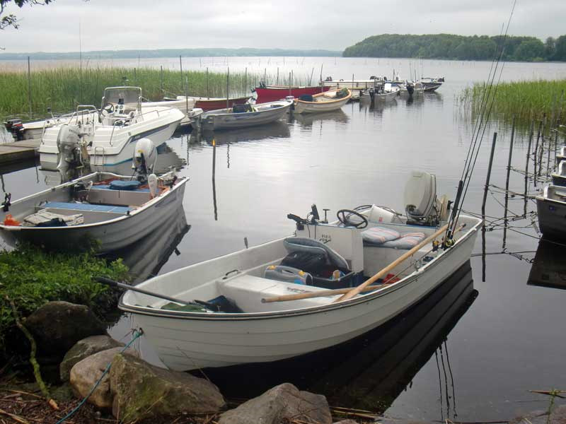
<svg viewBox="0 0 566 424">
<path fill-rule="evenodd" d="M 565 245 L 545 240 L 538 242 L 528 285 L 566 289 Z"/>
</svg>

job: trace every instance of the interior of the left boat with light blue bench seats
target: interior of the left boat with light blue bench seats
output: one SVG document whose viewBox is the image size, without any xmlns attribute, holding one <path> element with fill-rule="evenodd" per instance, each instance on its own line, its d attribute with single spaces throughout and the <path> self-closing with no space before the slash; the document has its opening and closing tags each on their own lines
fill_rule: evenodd
<svg viewBox="0 0 566 424">
<path fill-rule="evenodd" d="M 155 196 L 168 189 L 159 182 Z M 9 213 L 23 227 L 86 225 L 127 216 L 153 198 L 148 184 L 99 172 L 14 202 Z"/>
</svg>

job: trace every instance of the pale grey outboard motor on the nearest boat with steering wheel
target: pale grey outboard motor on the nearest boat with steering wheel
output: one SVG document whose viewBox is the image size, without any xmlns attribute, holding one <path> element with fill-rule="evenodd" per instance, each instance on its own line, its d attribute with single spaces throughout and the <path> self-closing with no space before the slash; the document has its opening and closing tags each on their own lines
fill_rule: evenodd
<svg viewBox="0 0 566 424">
<path fill-rule="evenodd" d="M 446 196 L 444 196 L 446 197 Z M 428 172 L 414 171 L 405 185 L 407 223 L 437 225 L 443 218 L 444 206 L 437 199 L 437 177 Z M 446 202 L 446 199 L 443 199 Z"/>
</svg>

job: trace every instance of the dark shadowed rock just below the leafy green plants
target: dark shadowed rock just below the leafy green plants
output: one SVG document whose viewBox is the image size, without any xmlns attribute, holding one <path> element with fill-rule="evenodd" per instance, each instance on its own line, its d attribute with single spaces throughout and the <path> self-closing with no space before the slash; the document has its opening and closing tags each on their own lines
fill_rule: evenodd
<svg viewBox="0 0 566 424">
<path fill-rule="evenodd" d="M 88 307 L 69 302 L 46 303 L 25 319 L 25 326 L 40 354 L 48 355 L 64 355 L 82 338 L 106 334 L 105 324 Z"/>
</svg>

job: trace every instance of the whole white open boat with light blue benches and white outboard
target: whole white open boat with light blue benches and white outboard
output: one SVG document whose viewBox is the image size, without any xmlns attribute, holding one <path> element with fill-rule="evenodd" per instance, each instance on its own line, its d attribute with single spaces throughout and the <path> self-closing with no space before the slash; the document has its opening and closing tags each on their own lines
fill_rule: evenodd
<svg viewBox="0 0 566 424">
<path fill-rule="evenodd" d="M 137 144 L 138 178 L 94 172 L 71 182 L 4 201 L 0 231 L 8 241 L 25 241 L 54 249 L 92 247 L 110 252 L 137 242 L 165 222 L 183 202 L 186 177 L 175 172 L 151 174 L 151 157 L 142 139 Z M 145 146 L 144 146 L 145 145 Z"/>
</svg>

